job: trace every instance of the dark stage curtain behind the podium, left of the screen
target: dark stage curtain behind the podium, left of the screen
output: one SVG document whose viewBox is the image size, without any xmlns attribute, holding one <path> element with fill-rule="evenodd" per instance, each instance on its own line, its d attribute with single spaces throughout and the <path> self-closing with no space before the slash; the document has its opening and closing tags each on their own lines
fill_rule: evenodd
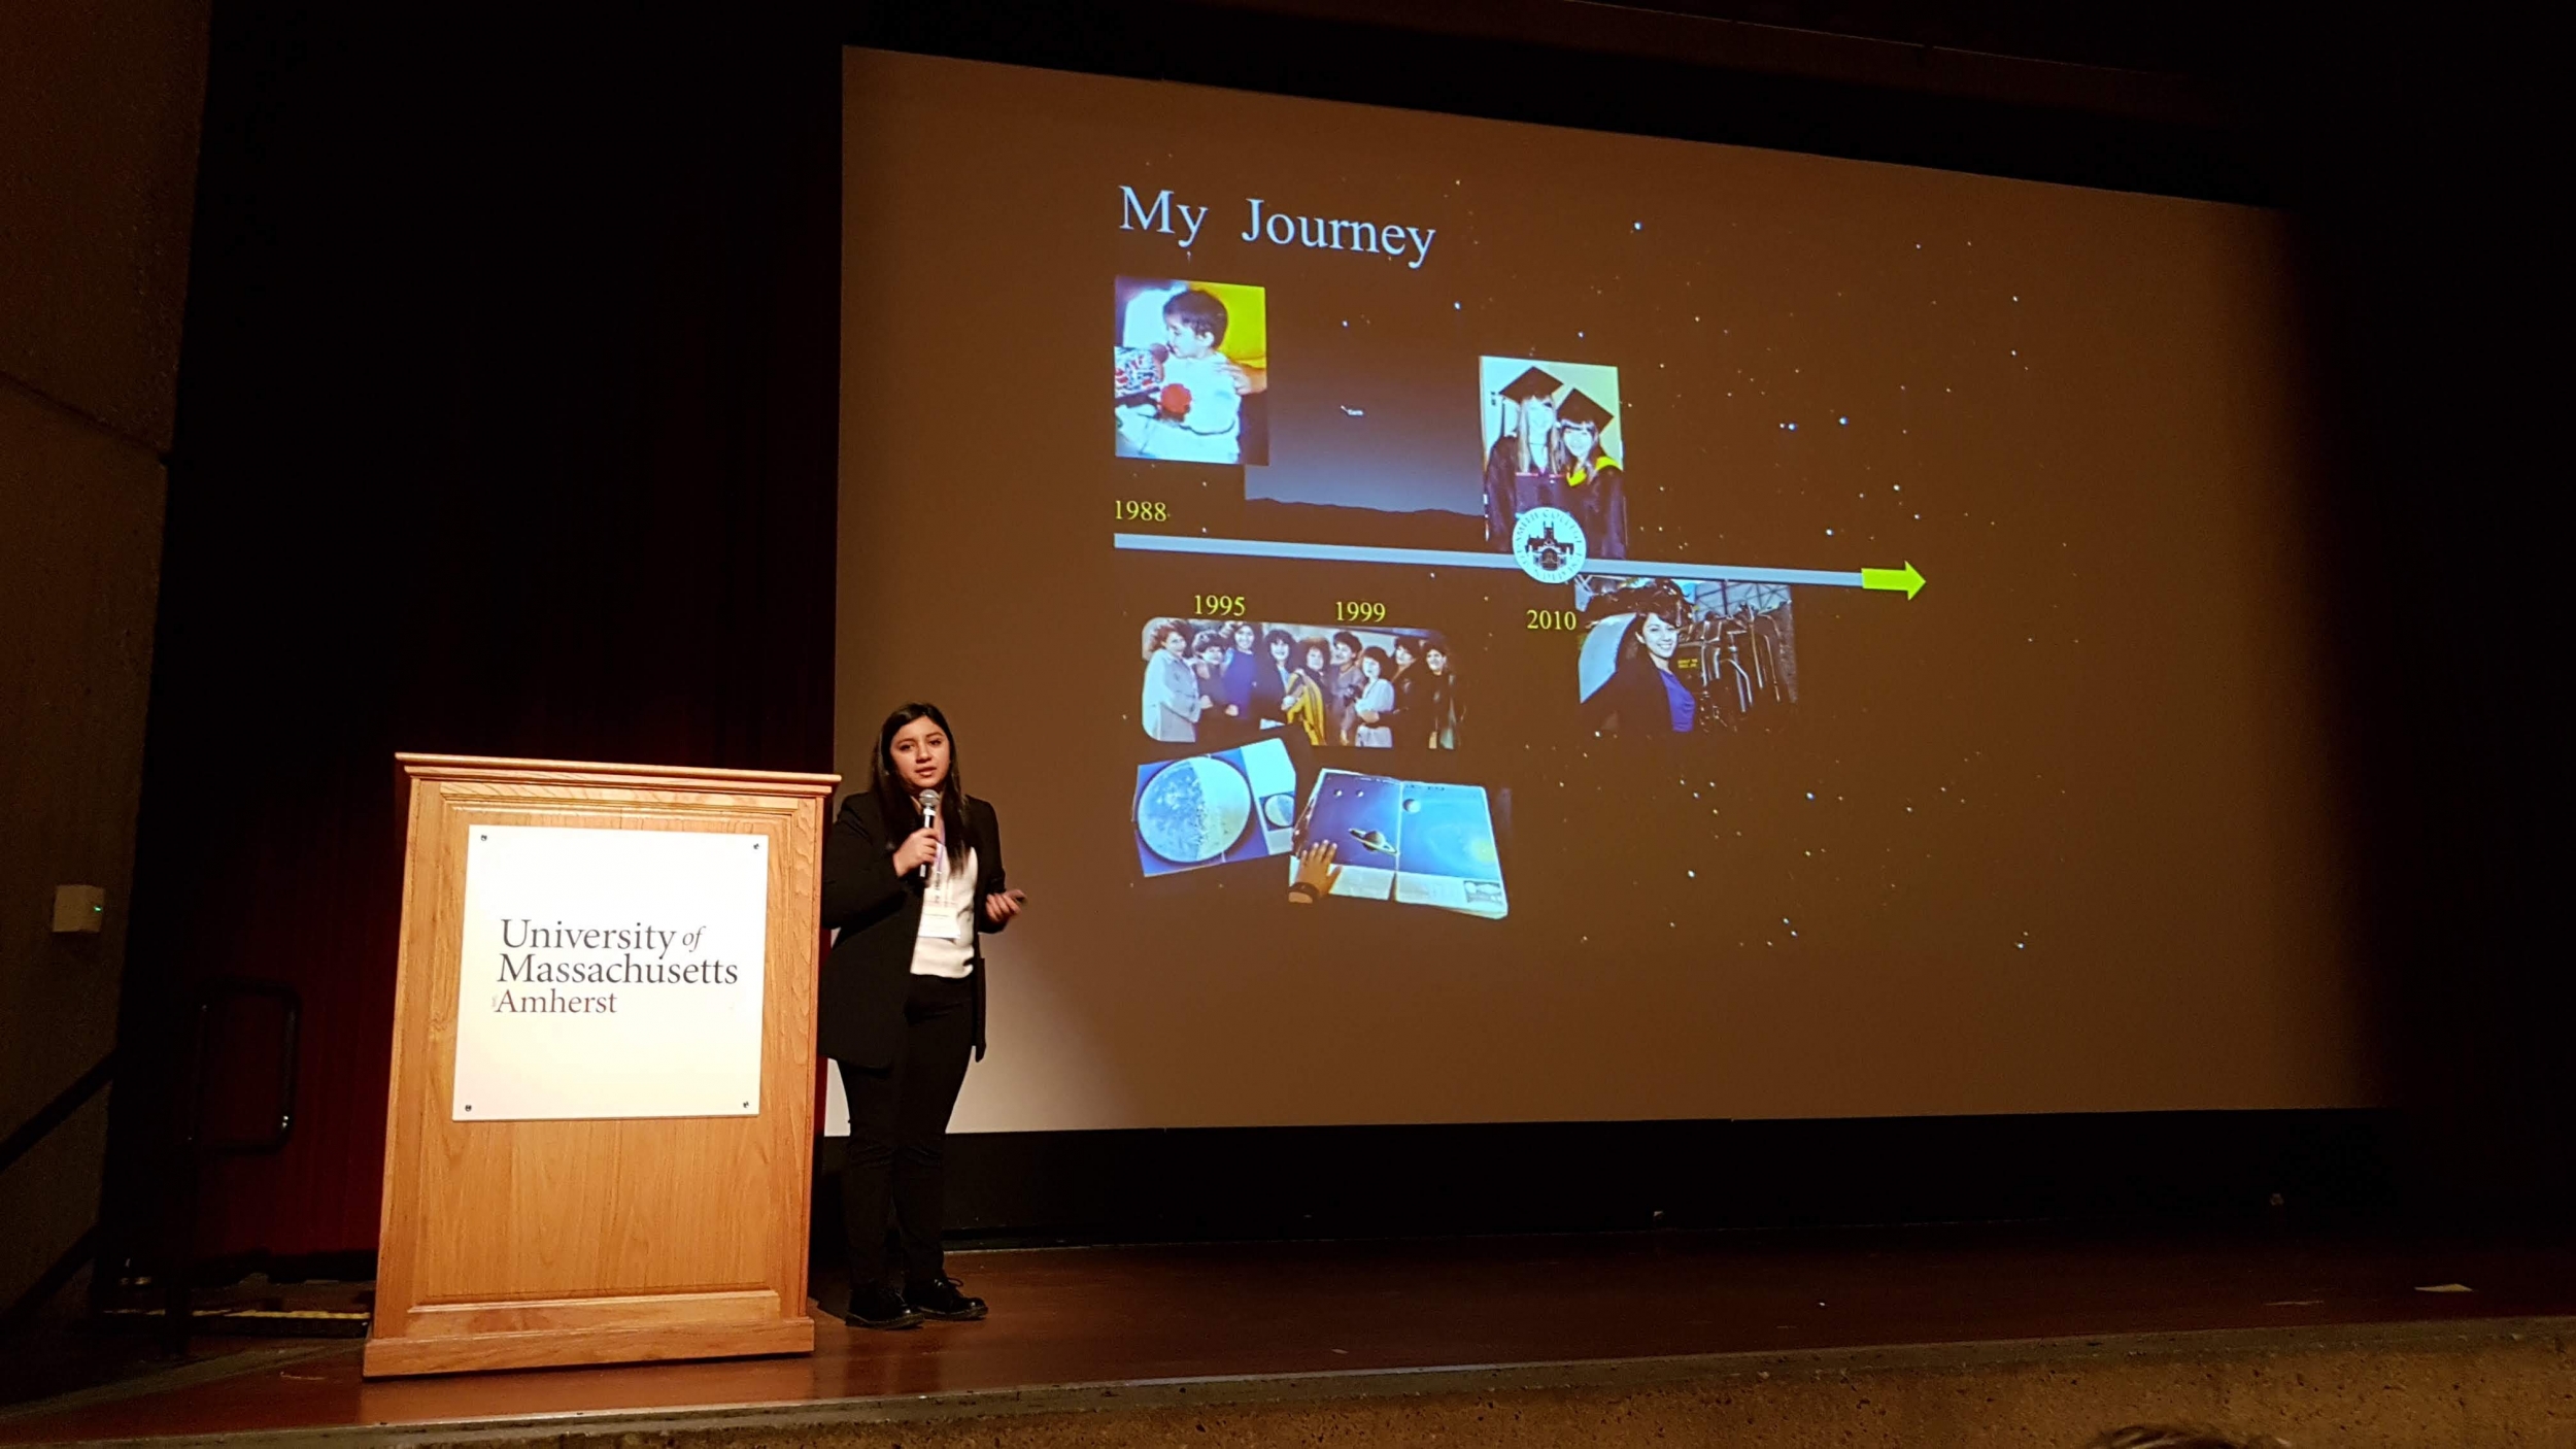
<svg viewBox="0 0 2576 1449">
<path fill-rule="evenodd" d="M 829 768 L 837 235 L 829 23 L 216 5 L 124 1250 L 224 975 L 301 993 L 301 1119 L 209 1176 L 196 1250 L 376 1245 L 394 750 Z"/>
</svg>

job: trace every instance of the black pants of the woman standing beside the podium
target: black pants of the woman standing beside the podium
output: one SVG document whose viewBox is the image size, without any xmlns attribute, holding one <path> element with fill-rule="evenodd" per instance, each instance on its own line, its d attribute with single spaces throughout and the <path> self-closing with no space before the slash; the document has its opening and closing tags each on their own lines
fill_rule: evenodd
<svg viewBox="0 0 2576 1449">
<path fill-rule="evenodd" d="M 850 1245 L 850 1287 L 889 1281 L 886 1209 L 904 1243 L 904 1281 L 945 1276 L 940 1266 L 940 1178 L 948 1114 L 974 1055 L 971 977 L 907 977 L 904 1044 L 891 1067 L 840 1065 L 850 1096 L 850 1152 L 840 1209 Z"/>
</svg>

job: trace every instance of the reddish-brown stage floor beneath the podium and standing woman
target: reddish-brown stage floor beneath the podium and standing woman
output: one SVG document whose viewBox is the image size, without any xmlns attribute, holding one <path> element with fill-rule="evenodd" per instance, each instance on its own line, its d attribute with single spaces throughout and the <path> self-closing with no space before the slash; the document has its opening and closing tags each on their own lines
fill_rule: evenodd
<svg viewBox="0 0 2576 1449">
<path fill-rule="evenodd" d="M 819 1318 L 811 1359 L 389 1382 L 358 1377 L 355 1343 L 263 1343 L 15 1405 L 0 1444 L 556 1415 L 605 1428 L 714 1408 L 1316 1374 L 1365 1392 L 1370 1374 L 1422 1369 L 2576 1315 L 2576 1248 L 2362 1235 L 1940 1227 L 1036 1248 L 956 1253 L 951 1271 L 992 1299 L 987 1323 L 860 1333 Z"/>
</svg>

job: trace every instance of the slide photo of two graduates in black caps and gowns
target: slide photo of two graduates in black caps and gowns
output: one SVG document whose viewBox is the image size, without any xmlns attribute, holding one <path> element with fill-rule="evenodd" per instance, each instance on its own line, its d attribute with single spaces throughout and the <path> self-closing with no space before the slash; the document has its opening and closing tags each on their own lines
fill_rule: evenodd
<svg viewBox="0 0 2576 1449">
<path fill-rule="evenodd" d="M 1561 508 L 1584 531 L 1584 554 L 1628 557 L 1628 472 L 1618 420 L 1618 369 L 1476 358 L 1484 392 L 1484 544 L 1512 547 L 1533 508 Z"/>
</svg>

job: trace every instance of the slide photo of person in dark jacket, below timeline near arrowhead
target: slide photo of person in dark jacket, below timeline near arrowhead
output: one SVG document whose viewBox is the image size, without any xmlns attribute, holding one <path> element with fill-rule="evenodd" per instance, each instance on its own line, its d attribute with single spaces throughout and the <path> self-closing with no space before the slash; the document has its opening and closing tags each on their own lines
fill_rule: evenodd
<svg viewBox="0 0 2576 1449">
<path fill-rule="evenodd" d="M 1602 735 L 1739 730 L 1798 701 L 1798 637 L 1785 583 L 1574 580 L 1584 619 L 1577 686 Z"/>
</svg>

